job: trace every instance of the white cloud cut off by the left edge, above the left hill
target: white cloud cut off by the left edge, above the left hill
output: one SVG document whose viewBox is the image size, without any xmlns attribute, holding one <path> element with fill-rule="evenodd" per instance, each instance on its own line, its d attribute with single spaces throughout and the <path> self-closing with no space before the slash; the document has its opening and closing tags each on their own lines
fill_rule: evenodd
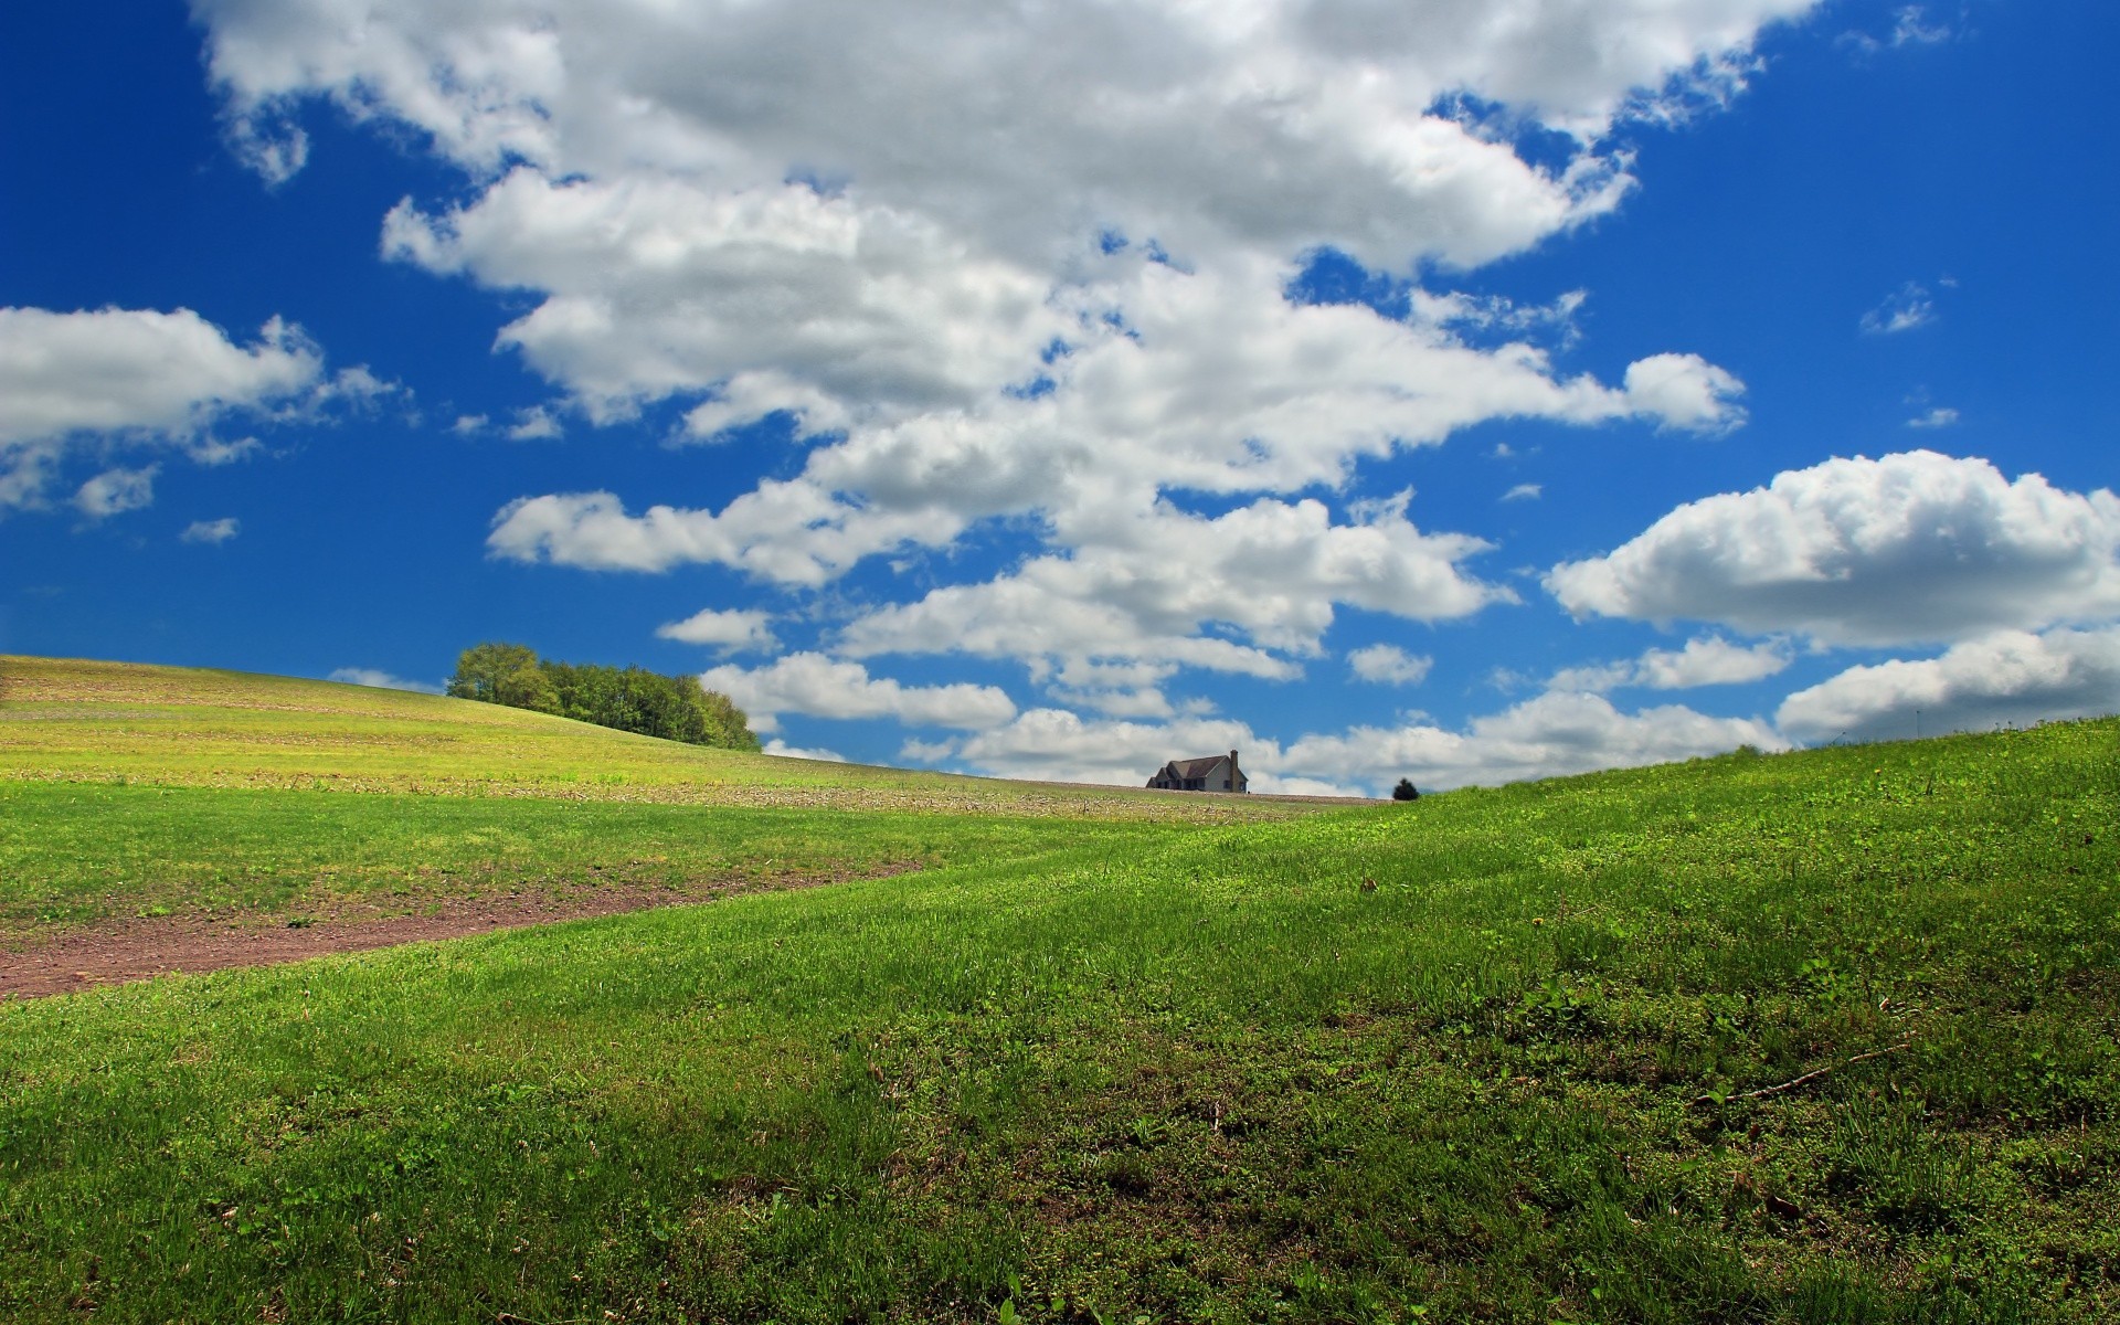
<svg viewBox="0 0 2120 1325">
<path fill-rule="evenodd" d="M 278 318 L 244 346 L 187 307 L 0 307 L 0 509 L 47 505 L 78 452 L 159 447 L 225 464 L 257 441 L 214 439 L 214 424 L 314 418 L 394 390 L 365 369 L 326 377 L 322 352 Z M 151 477 L 153 466 L 112 469 L 74 505 L 98 517 L 144 505 Z"/>
</svg>

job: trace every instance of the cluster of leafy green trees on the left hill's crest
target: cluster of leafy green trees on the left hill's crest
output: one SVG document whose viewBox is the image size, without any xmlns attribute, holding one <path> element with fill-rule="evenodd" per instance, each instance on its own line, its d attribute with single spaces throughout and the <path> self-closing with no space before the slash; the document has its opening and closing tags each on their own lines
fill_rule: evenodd
<svg viewBox="0 0 2120 1325">
<path fill-rule="evenodd" d="M 744 710 L 700 685 L 697 676 L 547 661 L 528 644 L 464 649 L 449 676 L 449 693 L 695 746 L 759 748 Z"/>
</svg>

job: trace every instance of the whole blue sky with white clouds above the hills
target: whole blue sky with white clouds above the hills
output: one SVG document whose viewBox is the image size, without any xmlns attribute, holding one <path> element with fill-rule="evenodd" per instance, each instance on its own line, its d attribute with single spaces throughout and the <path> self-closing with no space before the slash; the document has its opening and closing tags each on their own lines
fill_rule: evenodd
<svg viewBox="0 0 2120 1325">
<path fill-rule="evenodd" d="M 2120 708 L 2107 4 L 0 15 L 0 651 L 1499 782 Z M 1919 717 L 1916 717 L 1919 710 Z"/>
</svg>

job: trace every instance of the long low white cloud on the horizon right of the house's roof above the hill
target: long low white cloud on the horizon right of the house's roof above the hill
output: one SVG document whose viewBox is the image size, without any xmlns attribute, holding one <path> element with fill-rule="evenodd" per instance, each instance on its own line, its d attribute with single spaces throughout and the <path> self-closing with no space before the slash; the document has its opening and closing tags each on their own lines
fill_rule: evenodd
<svg viewBox="0 0 2120 1325">
<path fill-rule="evenodd" d="M 1505 712 L 1473 719 L 1465 731 L 1408 723 L 1306 736 L 1287 746 L 1272 767 L 1361 782 L 1382 793 L 1399 778 L 1412 778 L 1423 789 L 1497 784 L 1668 763 L 1741 744 L 1772 750 L 1787 746 L 1760 719 L 1717 719 L 1677 704 L 1630 714 L 1603 695 L 1548 691 Z"/>
</svg>

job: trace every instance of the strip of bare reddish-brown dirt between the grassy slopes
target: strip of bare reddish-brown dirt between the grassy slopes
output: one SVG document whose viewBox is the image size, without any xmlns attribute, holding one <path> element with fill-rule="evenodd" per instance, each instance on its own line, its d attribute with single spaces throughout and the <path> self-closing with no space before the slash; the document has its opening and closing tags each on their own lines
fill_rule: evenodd
<svg viewBox="0 0 2120 1325">
<path fill-rule="evenodd" d="M 814 888 L 848 878 L 905 873 L 914 865 L 873 876 L 795 876 L 767 884 Z M 49 943 L 0 948 L 0 999 L 42 999 L 98 984 L 129 984 L 182 971 L 267 967 L 333 952 L 365 952 L 428 939 L 460 939 L 496 929 L 553 924 L 587 916 L 621 916 L 651 907 L 729 897 L 731 890 L 678 893 L 674 888 L 598 888 L 581 895 L 524 893 L 500 897 L 445 897 L 416 916 L 324 914 L 305 924 L 231 924 L 212 916 L 121 916 L 70 929 Z M 757 893 L 759 888 L 740 888 Z"/>
</svg>

